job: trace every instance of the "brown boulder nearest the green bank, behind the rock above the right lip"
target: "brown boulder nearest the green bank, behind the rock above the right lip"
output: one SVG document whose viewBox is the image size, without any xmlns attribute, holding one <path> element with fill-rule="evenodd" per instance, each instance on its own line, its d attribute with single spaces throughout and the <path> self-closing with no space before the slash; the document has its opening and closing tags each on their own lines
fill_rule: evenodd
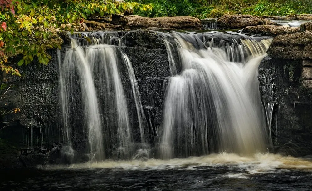
<svg viewBox="0 0 312 191">
<path fill-rule="evenodd" d="M 217 20 L 217 27 L 229 29 L 241 29 L 256 25 L 279 25 L 265 18 L 251 15 L 224 15 Z"/>
</svg>

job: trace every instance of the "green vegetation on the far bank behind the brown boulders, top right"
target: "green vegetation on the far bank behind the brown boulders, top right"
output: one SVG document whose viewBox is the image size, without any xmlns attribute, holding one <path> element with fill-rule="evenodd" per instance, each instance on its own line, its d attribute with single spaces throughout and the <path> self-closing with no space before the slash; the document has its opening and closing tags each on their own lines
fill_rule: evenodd
<svg viewBox="0 0 312 191">
<path fill-rule="evenodd" d="M 126 0 L 128 2 L 134 0 Z M 151 11 L 134 11 L 147 17 L 191 15 L 197 18 L 224 14 L 290 15 L 312 14 L 312 0 L 135 0 L 153 3 Z"/>
</svg>

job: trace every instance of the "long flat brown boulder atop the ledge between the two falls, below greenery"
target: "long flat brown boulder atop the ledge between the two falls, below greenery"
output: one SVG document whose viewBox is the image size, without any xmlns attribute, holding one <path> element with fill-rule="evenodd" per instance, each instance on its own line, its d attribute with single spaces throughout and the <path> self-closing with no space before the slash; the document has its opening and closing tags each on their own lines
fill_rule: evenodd
<svg viewBox="0 0 312 191">
<path fill-rule="evenodd" d="M 149 30 L 200 30 L 202 22 L 191 16 L 177 17 L 141 17 L 138 15 L 124 16 L 125 28 Z"/>
</svg>

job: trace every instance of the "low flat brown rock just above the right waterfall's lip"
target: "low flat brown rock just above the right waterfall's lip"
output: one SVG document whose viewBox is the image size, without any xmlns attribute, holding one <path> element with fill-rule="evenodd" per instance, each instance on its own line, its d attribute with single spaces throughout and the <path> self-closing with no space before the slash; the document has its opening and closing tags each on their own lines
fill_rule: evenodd
<svg viewBox="0 0 312 191">
<path fill-rule="evenodd" d="M 243 28 L 243 33 L 261 34 L 263 36 L 278 36 L 283 34 L 292 34 L 299 32 L 299 27 L 283 27 L 275 25 L 257 25 Z"/>
</svg>

